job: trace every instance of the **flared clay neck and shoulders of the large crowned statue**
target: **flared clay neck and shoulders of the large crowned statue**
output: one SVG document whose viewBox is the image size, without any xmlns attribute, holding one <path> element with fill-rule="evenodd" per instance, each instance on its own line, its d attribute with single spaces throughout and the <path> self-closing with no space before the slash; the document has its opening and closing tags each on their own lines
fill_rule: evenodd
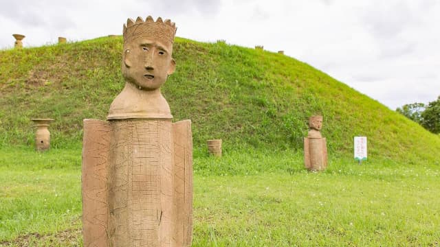
<svg viewBox="0 0 440 247">
<path fill-rule="evenodd" d="M 170 106 L 160 89 L 139 89 L 126 82 L 122 92 L 113 100 L 107 119 L 172 119 Z"/>
</svg>

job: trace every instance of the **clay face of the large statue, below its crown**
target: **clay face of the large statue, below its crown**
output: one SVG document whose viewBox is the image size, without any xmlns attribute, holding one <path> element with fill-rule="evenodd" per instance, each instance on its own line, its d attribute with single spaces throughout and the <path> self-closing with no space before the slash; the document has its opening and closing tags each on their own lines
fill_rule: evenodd
<svg viewBox="0 0 440 247">
<path fill-rule="evenodd" d="M 158 89 L 175 70 L 173 45 L 153 38 L 135 38 L 124 47 L 122 75 L 143 90 Z"/>
</svg>

